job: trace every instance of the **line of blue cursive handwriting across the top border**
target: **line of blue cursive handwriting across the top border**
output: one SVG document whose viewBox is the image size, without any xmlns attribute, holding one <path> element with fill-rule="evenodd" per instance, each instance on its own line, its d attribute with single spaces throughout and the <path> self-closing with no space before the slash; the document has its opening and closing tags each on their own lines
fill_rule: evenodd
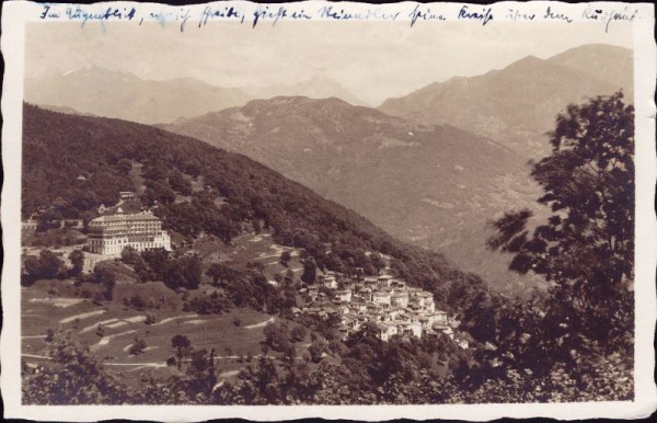
<svg viewBox="0 0 657 423">
<path fill-rule="evenodd" d="M 339 3 L 325 4 L 313 8 L 313 3 L 299 2 L 289 4 L 254 4 L 254 3 L 230 3 L 212 2 L 198 7 L 171 7 L 160 5 L 160 10 L 153 10 L 149 5 L 115 7 L 106 4 L 122 3 L 96 3 L 96 4 L 65 4 L 45 3 L 41 4 L 38 19 L 44 21 L 80 21 L 84 26 L 89 21 L 101 23 L 108 21 L 157 22 L 165 27 L 170 22 L 178 25 L 180 32 L 188 27 L 187 22 L 194 22 L 194 26 L 203 28 L 212 21 L 233 21 L 240 24 L 247 23 L 252 28 L 264 22 L 275 26 L 281 21 L 405 21 L 414 27 L 418 22 L 438 24 L 445 21 L 471 21 L 479 22 L 482 26 L 492 22 L 535 22 L 551 21 L 573 24 L 575 21 L 597 21 L 603 24 L 604 32 L 609 32 L 615 23 L 632 23 L 638 16 L 638 8 L 625 5 L 621 9 L 618 4 L 608 7 L 603 3 L 592 5 L 583 4 L 574 9 L 563 4 L 550 4 L 544 8 L 530 7 L 530 4 L 508 5 L 483 5 L 458 3 L 419 4 L 399 3 L 387 7 L 368 7 L 366 4 Z M 103 25 L 104 30 L 104 25 Z"/>
</svg>

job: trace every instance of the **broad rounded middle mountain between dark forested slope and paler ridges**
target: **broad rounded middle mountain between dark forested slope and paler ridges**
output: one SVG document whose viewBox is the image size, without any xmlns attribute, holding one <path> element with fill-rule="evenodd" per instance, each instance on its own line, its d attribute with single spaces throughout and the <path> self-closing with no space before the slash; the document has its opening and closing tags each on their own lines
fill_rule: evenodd
<svg viewBox="0 0 657 423">
<path fill-rule="evenodd" d="M 489 138 L 307 98 L 254 100 L 163 128 L 265 163 L 497 287 L 519 281 L 485 250 L 485 227 L 534 187 L 518 176 L 525 160 Z"/>
</svg>

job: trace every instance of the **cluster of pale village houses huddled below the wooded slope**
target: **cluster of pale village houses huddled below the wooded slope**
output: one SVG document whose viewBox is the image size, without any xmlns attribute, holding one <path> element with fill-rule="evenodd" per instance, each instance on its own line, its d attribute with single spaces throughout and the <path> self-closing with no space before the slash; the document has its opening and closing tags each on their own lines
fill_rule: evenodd
<svg viewBox="0 0 657 423">
<path fill-rule="evenodd" d="M 449 318 L 446 311 L 436 310 L 430 293 L 407 286 L 404 281 L 391 275 L 367 276 L 358 281 L 341 273 L 326 272 L 319 284 L 303 287 L 299 294 L 309 301 L 308 307 L 293 308 L 292 311 L 323 319 L 337 315 L 343 339 L 358 332 L 365 323 L 372 322 L 382 341 L 394 335 L 419 339 L 442 332 L 460 347 L 469 347 L 468 335 L 454 332 L 459 322 Z"/>
</svg>

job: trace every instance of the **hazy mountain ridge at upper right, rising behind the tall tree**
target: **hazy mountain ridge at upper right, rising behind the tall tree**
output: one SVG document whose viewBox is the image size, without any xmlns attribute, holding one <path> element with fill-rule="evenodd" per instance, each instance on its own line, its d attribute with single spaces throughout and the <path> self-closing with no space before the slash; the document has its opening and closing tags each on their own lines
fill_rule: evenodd
<svg viewBox="0 0 657 423">
<path fill-rule="evenodd" d="M 379 110 L 424 123 L 451 124 L 497 139 L 523 157 L 549 151 L 556 114 L 588 96 L 622 89 L 632 102 L 632 50 L 585 45 L 548 59 L 528 56 L 502 70 L 435 82 Z"/>
</svg>

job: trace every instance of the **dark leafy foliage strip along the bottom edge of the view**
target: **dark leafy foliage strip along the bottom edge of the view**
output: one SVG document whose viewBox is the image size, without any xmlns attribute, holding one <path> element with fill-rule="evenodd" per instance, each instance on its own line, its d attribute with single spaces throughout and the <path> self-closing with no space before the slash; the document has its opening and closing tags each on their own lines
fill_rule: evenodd
<svg viewBox="0 0 657 423">
<path fill-rule="evenodd" d="M 23 402 L 30 404 L 436 404 L 626 401 L 633 398 L 632 359 L 589 355 L 573 370 L 560 364 L 543 376 L 529 370 L 470 367 L 466 353 L 439 377 L 427 353 L 448 351 L 448 340 L 381 342 L 367 331 L 344 346 L 339 362 L 261 355 L 234 382 L 219 382 L 214 351 L 195 350 L 185 336 L 172 339 L 171 365 L 180 373 L 131 388 L 99 359 L 58 333 L 51 364 L 36 374 L 23 368 Z M 339 355 L 337 355 L 339 357 Z"/>
</svg>

